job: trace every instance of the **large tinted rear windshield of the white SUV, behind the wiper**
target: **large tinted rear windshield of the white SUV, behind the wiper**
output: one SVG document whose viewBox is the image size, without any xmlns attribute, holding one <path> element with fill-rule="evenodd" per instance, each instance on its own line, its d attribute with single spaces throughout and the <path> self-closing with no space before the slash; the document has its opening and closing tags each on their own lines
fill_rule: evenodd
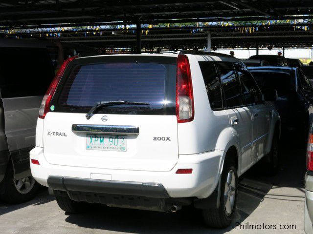
<svg viewBox="0 0 313 234">
<path fill-rule="evenodd" d="M 115 105 L 97 113 L 175 115 L 176 58 L 115 58 L 72 65 L 53 98 L 55 111 L 87 113 L 96 102 L 123 100 L 149 105 Z"/>
</svg>

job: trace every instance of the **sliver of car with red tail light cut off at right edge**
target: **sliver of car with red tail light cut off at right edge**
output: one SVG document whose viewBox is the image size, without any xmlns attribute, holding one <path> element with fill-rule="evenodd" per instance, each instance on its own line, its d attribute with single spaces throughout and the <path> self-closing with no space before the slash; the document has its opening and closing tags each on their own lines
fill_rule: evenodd
<svg viewBox="0 0 313 234">
<path fill-rule="evenodd" d="M 310 127 L 307 150 L 307 172 L 304 177 L 304 231 L 313 234 L 313 125 Z"/>
</svg>

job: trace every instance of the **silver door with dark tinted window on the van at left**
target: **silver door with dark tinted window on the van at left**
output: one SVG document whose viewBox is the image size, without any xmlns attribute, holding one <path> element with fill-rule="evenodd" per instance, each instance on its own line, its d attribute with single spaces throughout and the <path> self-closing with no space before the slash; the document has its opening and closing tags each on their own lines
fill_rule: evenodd
<svg viewBox="0 0 313 234">
<path fill-rule="evenodd" d="M 53 76 L 44 48 L 0 48 L 0 91 L 11 154 L 35 146 L 40 103 Z"/>
</svg>

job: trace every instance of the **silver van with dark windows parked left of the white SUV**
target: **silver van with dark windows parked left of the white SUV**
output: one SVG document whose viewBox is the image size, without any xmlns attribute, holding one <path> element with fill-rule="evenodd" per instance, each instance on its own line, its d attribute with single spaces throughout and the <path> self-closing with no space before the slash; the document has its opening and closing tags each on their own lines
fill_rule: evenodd
<svg viewBox="0 0 313 234">
<path fill-rule="evenodd" d="M 0 39 L 0 198 L 6 202 L 27 201 L 38 187 L 29 151 L 35 146 L 41 101 L 54 77 L 54 51 L 49 41 Z"/>
</svg>

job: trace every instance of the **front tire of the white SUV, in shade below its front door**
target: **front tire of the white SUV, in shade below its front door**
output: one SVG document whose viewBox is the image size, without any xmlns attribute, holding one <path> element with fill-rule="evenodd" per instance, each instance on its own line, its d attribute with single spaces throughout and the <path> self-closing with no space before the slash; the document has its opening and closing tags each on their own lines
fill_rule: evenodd
<svg viewBox="0 0 313 234">
<path fill-rule="evenodd" d="M 275 133 L 272 140 L 270 152 L 265 156 L 264 171 L 268 176 L 275 176 L 279 169 L 279 142 Z"/>
</svg>

